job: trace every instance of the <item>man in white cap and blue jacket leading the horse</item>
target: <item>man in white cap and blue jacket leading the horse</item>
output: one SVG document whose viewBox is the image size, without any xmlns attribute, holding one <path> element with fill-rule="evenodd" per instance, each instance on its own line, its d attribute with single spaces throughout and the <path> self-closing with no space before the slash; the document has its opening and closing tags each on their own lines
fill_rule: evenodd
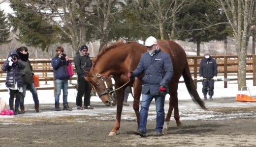
<svg viewBox="0 0 256 147">
<path fill-rule="evenodd" d="M 142 54 L 137 68 L 128 73 L 129 78 L 134 78 L 144 73 L 142 78 L 142 103 L 140 109 L 140 125 L 134 133 L 146 137 L 146 125 L 149 106 L 153 98 L 156 102 L 157 125 L 154 136 L 162 135 L 164 123 L 164 99 L 168 92 L 168 83 L 173 75 L 172 61 L 168 54 L 158 47 L 157 39 L 149 37 L 145 41 L 148 52 Z"/>
</svg>

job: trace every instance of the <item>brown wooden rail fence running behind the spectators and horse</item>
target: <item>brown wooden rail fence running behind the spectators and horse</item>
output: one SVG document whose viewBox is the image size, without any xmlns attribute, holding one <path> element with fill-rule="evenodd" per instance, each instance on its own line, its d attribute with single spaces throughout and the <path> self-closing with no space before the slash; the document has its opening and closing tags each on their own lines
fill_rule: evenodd
<svg viewBox="0 0 256 147">
<path fill-rule="evenodd" d="M 199 74 L 199 65 L 200 60 L 204 58 L 203 56 L 188 56 L 189 67 L 192 76 L 194 77 L 194 84 L 197 85 L 196 77 Z M 227 79 L 227 74 L 235 74 L 238 72 L 238 58 L 237 56 L 212 56 L 212 58 L 216 59 L 218 64 L 218 75 L 224 74 L 224 79 Z M 73 59 L 70 59 L 72 62 Z M 92 58 L 94 60 L 94 58 Z M 0 60 L 0 67 L 2 66 L 5 60 Z M 39 75 L 39 80 L 44 81 L 45 84 L 48 81 L 54 81 L 53 76 L 53 68 L 51 65 L 51 59 L 30 59 L 30 62 L 33 67 L 33 71 L 35 74 Z M 253 85 L 256 86 L 256 55 L 247 55 L 247 63 L 246 63 L 246 73 L 252 73 L 253 77 L 246 78 L 247 80 L 253 80 Z M 72 63 L 74 67 L 74 63 Z M 0 83 L 5 83 L 6 73 L 0 71 Z M 76 77 L 72 77 L 69 80 L 69 83 L 72 84 L 72 80 L 76 79 Z M 230 80 L 237 80 L 237 78 L 232 78 Z M 76 83 L 73 83 L 76 84 Z M 75 88 L 75 86 L 69 86 L 69 88 Z M 227 81 L 224 80 L 224 88 L 227 88 Z M 38 87 L 37 90 L 50 90 L 54 89 L 54 87 Z M 7 91 L 6 89 L 0 89 L 0 92 Z"/>
</svg>

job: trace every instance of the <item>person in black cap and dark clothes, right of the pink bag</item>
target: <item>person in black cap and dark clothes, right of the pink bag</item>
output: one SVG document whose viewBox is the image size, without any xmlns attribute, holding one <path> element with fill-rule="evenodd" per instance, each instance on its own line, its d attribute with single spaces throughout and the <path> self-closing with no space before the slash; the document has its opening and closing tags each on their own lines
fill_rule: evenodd
<svg viewBox="0 0 256 147">
<path fill-rule="evenodd" d="M 92 60 L 88 53 L 88 47 L 83 45 L 80 47 L 79 52 L 74 57 L 75 69 L 78 76 L 78 92 L 76 96 L 76 105 L 78 110 L 83 109 L 94 109 L 91 103 L 91 86 L 88 81 L 84 78 L 86 76 L 85 71 L 89 72 L 92 68 Z M 84 106 L 83 104 L 84 95 Z"/>
</svg>

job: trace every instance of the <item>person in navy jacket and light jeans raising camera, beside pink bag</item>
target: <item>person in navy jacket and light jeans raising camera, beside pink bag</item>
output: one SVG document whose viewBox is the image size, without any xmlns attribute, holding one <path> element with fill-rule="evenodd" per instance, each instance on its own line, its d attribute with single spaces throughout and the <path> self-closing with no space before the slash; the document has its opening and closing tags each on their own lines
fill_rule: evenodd
<svg viewBox="0 0 256 147">
<path fill-rule="evenodd" d="M 67 102 L 67 90 L 68 90 L 68 79 L 69 74 L 67 72 L 67 65 L 69 58 L 63 53 L 63 47 L 56 49 L 56 56 L 52 58 L 53 74 L 55 78 L 55 111 L 61 111 L 60 109 L 60 95 L 63 90 L 63 110 L 71 111 Z"/>
</svg>

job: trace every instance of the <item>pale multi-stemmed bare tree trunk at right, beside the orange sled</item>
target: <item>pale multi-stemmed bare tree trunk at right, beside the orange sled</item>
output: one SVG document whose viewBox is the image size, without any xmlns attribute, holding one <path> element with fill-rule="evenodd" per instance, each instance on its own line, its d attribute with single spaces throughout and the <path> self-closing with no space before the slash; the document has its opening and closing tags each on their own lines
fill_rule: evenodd
<svg viewBox="0 0 256 147">
<path fill-rule="evenodd" d="M 255 19 L 256 0 L 217 0 L 233 30 L 238 55 L 238 89 L 246 86 L 246 56 L 252 21 Z"/>
</svg>

